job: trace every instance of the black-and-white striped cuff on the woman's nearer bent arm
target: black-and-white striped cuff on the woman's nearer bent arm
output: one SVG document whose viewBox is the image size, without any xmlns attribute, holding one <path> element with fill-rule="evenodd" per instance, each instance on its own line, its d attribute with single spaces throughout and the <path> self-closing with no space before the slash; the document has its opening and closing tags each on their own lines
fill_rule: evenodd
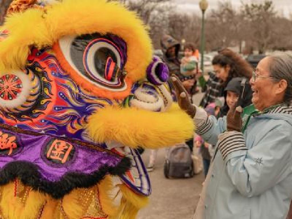
<svg viewBox="0 0 292 219">
<path fill-rule="evenodd" d="M 221 151 L 223 159 L 225 159 L 227 155 L 232 152 L 247 150 L 245 140 L 241 132 L 227 131 L 219 135 L 218 140 L 218 148 Z"/>
</svg>

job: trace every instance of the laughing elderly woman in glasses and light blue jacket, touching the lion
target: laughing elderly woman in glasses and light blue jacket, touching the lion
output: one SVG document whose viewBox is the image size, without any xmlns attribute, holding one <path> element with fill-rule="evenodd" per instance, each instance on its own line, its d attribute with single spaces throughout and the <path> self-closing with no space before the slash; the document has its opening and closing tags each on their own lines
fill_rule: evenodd
<svg viewBox="0 0 292 219">
<path fill-rule="evenodd" d="M 292 197 L 292 56 L 259 62 L 250 79 L 257 110 L 244 122 L 240 107 L 218 121 L 207 117 L 190 104 L 178 79 L 173 83 L 196 132 L 217 142 L 194 218 L 285 219 Z"/>
</svg>

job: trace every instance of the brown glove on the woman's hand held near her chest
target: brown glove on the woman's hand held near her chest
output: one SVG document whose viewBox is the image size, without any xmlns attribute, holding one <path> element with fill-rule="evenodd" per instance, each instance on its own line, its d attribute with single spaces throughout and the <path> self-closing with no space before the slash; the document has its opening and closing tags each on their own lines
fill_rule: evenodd
<svg viewBox="0 0 292 219">
<path fill-rule="evenodd" d="M 241 132 L 242 128 L 242 119 L 241 119 L 241 113 L 242 113 L 241 106 L 238 107 L 232 107 L 229 109 L 227 113 L 227 131 L 238 131 Z"/>
</svg>

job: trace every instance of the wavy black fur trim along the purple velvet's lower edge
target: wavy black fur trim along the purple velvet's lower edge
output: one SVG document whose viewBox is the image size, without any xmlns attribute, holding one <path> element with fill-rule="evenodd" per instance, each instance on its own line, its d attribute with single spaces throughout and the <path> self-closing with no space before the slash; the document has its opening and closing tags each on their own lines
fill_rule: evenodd
<svg viewBox="0 0 292 219">
<path fill-rule="evenodd" d="M 111 175 L 122 175 L 131 168 L 128 157 L 121 159 L 115 167 L 103 166 L 92 174 L 66 173 L 60 181 L 51 182 L 41 177 L 38 167 L 27 161 L 14 161 L 6 164 L 0 171 L 0 186 L 6 185 L 16 178 L 32 187 L 33 190 L 50 194 L 55 199 L 60 199 L 76 188 L 88 188 L 96 185 L 108 173 Z"/>
</svg>

